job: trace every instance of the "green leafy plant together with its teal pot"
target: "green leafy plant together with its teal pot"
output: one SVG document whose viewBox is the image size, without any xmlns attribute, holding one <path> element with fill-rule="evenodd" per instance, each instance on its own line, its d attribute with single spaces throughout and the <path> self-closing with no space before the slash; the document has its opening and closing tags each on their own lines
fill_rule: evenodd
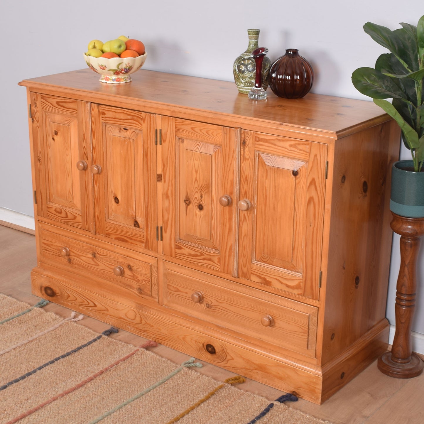
<svg viewBox="0 0 424 424">
<path fill-rule="evenodd" d="M 362 67 L 352 83 L 388 113 L 402 130 L 412 160 L 398 161 L 392 168 L 390 209 L 397 215 L 424 217 L 424 16 L 417 26 L 400 23 L 390 29 L 367 22 L 364 31 L 390 53 L 383 53 L 375 68 Z M 387 98 L 392 98 L 392 103 Z"/>
</svg>

